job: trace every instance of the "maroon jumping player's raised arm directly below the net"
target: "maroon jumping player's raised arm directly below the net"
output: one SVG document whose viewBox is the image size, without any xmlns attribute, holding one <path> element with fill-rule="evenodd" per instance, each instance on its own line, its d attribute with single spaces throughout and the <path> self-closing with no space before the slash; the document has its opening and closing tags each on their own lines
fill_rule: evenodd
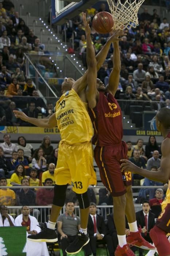
<svg viewBox="0 0 170 256">
<path fill-rule="evenodd" d="M 120 50 L 119 42 L 113 43 L 113 69 L 109 76 L 109 84 L 107 85 L 107 90 L 115 96 L 117 87 L 120 80 L 120 70 L 121 70 L 121 60 L 120 60 Z"/>
</svg>

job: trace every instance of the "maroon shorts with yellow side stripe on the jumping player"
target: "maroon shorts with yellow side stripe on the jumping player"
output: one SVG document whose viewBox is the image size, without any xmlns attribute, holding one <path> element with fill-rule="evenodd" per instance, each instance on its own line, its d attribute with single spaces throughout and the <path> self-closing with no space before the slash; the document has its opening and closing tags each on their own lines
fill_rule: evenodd
<svg viewBox="0 0 170 256">
<path fill-rule="evenodd" d="M 127 158 L 127 144 L 94 148 L 94 159 L 100 170 L 101 181 L 111 192 L 112 196 L 122 196 L 126 193 L 125 186 L 132 185 L 131 172 L 121 172 L 120 159 Z"/>
</svg>

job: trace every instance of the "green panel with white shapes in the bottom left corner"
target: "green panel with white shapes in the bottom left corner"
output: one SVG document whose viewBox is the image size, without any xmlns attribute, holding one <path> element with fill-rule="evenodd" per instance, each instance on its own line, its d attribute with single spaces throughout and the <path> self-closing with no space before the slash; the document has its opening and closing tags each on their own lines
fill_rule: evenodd
<svg viewBox="0 0 170 256">
<path fill-rule="evenodd" d="M 0 227 L 0 256 L 26 256 L 26 227 Z"/>
</svg>

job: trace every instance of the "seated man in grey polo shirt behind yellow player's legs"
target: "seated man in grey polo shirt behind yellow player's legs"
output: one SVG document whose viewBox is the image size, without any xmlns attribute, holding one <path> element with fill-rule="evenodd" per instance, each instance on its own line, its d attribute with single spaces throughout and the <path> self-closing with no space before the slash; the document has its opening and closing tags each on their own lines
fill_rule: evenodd
<svg viewBox="0 0 170 256">
<path fill-rule="evenodd" d="M 74 241 L 80 229 L 80 219 L 74 214 L 74 203 L 66 202 L 65 213 L 57 219 L 57 230 L 60 234 L 60 242 L 63 256 L 66 256 L 67 246 Z"/>
</svg>

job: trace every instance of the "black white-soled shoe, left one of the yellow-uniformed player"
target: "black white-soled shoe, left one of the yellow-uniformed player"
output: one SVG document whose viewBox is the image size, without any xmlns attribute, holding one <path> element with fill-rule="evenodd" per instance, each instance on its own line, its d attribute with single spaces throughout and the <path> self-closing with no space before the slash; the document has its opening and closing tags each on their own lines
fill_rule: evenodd
<svg viewBox="0 0 170 256">
<path fill-rule="evenodd" d="M 49 229 L 46 222 L 40 223 L 41 231 L 36 235 L 28 236 L 28 240 L 33 242 L 57 242 L 57 233 L 54 229 Z"/>
</svg>

